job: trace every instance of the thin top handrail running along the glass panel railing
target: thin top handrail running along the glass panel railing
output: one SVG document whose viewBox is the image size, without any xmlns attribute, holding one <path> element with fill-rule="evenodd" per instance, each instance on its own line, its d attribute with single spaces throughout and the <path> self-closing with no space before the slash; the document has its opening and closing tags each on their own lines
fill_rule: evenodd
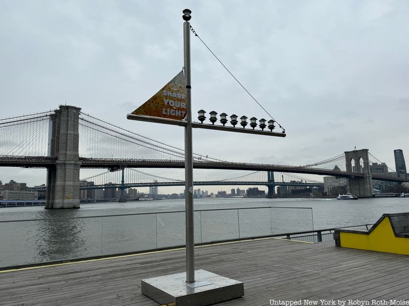
<svg viewBox="0 0 409 306">
<path fill-rule="evenodd" d="M 265 209 L 265 208 L 311 209 L 311 210 L 312 210 L 311 207 L 265 206 L 265 207 L 242 207 L 242 208 L 201 209 L 201 210 L 195 210 L 195 212 L 209 212 L 209 211 L 223 211 L 223 210 Z M 25 221 L 66 220 L 66 219 L 88 219 L 88 218 L 104 218 L 104 217 L 123 217 L 123 216 L 154 215 L 154 214 L 171 214 L 171 213 L 185 213 L 185 211 L 147 212 L 147 213 L 135 213 L 135 214 L 118 214 L 118 215 L 102 215 L 102 216 L 81 216 L 81 217 L 61 217 L 61 218 L 45 218 L 45 219 L 0 220 L 0 223 L 6 223 L 6 222 L 25 222 Z"/>
</svg>

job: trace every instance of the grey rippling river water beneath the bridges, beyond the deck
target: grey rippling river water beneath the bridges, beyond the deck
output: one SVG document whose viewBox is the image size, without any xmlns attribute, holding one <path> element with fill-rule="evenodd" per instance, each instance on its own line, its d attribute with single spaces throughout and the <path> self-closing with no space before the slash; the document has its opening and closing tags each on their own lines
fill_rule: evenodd
<svg viewBox="0 0 409 306">
<path fill-rule="evenodd" d="M 194 205 L 195 242 L 203 243 L 371 224 L 383 213 L 409 212 L 408 197 L 206 198 Z M 26 221 L 0 222 L 0 267 L 183 245 L 185 214 L 169 212 L 184 208 L 184 200 L 83 203 L 75 210 L 1 208 L 0 221 Z M 148 214 L 119 216 L 141 213 Z"/>
</svg>

